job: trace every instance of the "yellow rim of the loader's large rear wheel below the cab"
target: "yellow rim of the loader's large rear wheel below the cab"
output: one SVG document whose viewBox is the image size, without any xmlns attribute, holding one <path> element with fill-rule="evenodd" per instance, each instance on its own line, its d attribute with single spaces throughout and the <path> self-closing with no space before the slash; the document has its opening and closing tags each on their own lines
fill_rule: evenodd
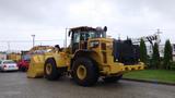
<svg viewBox="0 0 175 98">
<path fill-rule="evenodd" d="M 84 79 L 86 76 L 86 69 L 84 65 L 79 65 L 77 70 L 78 77 L 80 79 Z"/>
</svg>

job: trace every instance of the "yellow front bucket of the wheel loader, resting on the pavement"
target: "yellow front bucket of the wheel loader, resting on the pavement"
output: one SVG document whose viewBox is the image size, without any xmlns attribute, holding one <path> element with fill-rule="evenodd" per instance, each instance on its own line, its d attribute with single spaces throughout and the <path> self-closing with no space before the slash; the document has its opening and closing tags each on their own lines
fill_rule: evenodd
<svg viewBox="0 0 175 98">
<path fill-rule="evenodd" d="M 27 71 L 27 77 L 43 77 L 44 76 L 44 54 L 36 54 L 31 58 L 30 68 Z"/>
</svg>

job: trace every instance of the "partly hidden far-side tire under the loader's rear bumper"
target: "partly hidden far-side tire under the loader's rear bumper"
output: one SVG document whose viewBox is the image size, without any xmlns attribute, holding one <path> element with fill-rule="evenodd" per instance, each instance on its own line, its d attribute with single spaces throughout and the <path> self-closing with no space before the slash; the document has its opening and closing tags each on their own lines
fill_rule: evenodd
<svg viewBox="0 0 175 98">
<path fill-rule="evenodd" d="M 116 83 L 116 82 L 118 82 L 121 77 L 122 77 L 122 75 L 109 76 L 109 77 L 103 78 L 103 81 L 104 81 L 105 83 Z"/>
</svg>

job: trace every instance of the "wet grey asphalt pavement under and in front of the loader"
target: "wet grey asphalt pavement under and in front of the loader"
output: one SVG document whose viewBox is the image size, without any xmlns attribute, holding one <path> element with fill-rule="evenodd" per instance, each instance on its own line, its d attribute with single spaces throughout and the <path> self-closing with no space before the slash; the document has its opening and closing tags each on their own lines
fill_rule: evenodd
<svg viewBox="0 0 175 98">
<path fill-rule="evenodd" d="M 119 81 L 81 87 L 69 77 L 56 82 L 27 78 L 26 73 L 0 73 L 0 98 L 175 98 L 175 86 Z"/>
</svg>

